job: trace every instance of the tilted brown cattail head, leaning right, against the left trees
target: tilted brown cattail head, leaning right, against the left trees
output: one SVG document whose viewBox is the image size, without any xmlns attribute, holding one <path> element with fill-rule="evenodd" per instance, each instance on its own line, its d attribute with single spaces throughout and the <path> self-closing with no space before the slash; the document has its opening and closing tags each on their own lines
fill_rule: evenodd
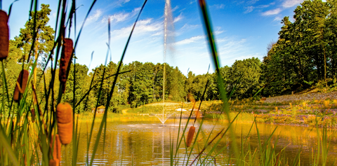
<svg viewBox="0 0 337 166">
<path fill-rule="evenodd" d="M 25 92 L 27 81 L 28 81 L 28 71 L 23 69 L 18 77 L 18 80 L 16 81 L 15 85 L 15 91 L 14 91 L 14 101 L 19 102 L 19 100 L 22 98 L 22 93 Z"/>
</svg>

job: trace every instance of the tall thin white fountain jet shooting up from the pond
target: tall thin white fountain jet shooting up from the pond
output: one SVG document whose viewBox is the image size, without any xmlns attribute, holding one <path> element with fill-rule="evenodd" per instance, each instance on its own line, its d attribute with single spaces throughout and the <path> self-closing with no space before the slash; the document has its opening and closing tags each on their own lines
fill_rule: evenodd
<svg viewBox="0 0 337 166">
<path fill-rule="evenodd" d="M 164 9 L 164 74 L 163 74 L 163 113 L 157 118 L 164 126 L 165 121 L 171 116 L 171 114 L 165 114 L 165 74 L 166 74 L 166 53 L 167 46 L 171 46 L 173 43 L 173 18 L 172 18 L 172 9 L 171 9 L 171 0 L 166 0 L 165 9 Z"/>
</svg>

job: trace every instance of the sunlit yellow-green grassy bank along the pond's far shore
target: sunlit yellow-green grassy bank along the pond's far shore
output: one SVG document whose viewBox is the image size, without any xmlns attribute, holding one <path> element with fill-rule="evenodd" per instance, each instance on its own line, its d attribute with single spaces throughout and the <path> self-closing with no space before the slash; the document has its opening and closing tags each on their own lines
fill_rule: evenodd
<svg viewBox="0 0 337 166">
<path fill-rule="evenodd" d="M 286 125 L 306 125 L 327 127 L 337 127 L 337 100 L 323 99 L 312 101 L 291 101 L 265 103 L 263 101 L 252 101 L 244 99 L 240 101 L 230 101 L 230 117 L 242 112 L 237 118 L 240 123 L 252 123 L 254 118 L 258 123 L 286 124 Z M 199 106 L 196 102 L 194 107 Z M 223 113 L 223 102 L 205 101 L 201 104 L 201 112 L 207 119 L 226 120 L 227 115 Z M 140 106 L 136 109 L 128 109 L 128 113 L 153 115 L 157 113 L 180 114 L 176 109 L 192 109 L 194 103 L 166 102 L 152 103 Z M 190 111 L 183 111 L 190 113 Z"/>
</svg>

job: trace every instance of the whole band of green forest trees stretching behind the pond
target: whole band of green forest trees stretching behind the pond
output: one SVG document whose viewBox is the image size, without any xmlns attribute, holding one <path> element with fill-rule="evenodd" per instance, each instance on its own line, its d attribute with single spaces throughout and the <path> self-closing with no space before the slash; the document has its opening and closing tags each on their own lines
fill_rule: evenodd
<svg viewBox="0 0 337 166">
<path fill-rule="evenodd" d="M 221 67 L 220 72 L 226 91 L 231 92 L 235 89 L 231 99 L 288 95 L 291 92 L 300 92 L 312 87 L 336 90 L 336 3 L 329 0 L 304 1 L 294 11 L 293 19 L 284 17 L 279 39 L 267 46 L 267 53 L 262 61 L 251 57 L 246 60 L 236 60 L 231 67 Z M 8 95 L 13 98 L 11 92 L 14 91 L 16 80 L 23 68 L 22 62 L 31 60 L 29 63 L 33 63 L 34 58 L 29 56 L 39 55 L 39 63 L 37 68 L 34 68 L 37 69 L 37 76 L 33 81 L 37 83 L 37 96 L 43 104 L 46 101 L 44 95 L 48 90 L 48 83 L 52 78 L 53 65 L 47 63 L 47 57 L 53 48 L 55 31 L 47 25 L 48 15 L 51 13 L 48 5 L 42 4 L 41 10 L 37 12 L 39 17 L 37 26 L 34 26 L 33 20 L 27 21 L 25 28 L 20 29 L 20 35 L 10 41 L 9 55 L 4 60 L 4 71 L 8 92 L 10 92 Z M 38 32 L 36 38 L 33 35 L 34 27 Z M 36 41 L 33 42 L 32 39 Z M 29 53 L 32 46 L 35 46 L 34 54 Z M 97 103 L 105 105 L 106 102 L 110 102 L 113 110 L 118 106 L 137 107 L 151 102 L 161 102 L 164 65 L 166 67 L 165 101 L 198 101 L 205 87 L 207 88 L 204 100 L 220 99 L 218 80 L 214 71 L 202 75 L 189 71 L 185 76 L 178 67 L 171 67 L 169 64 L 131 62 L 121 65 L 122 69 L 114 94 L 112 99 L 107 101 L 119 62 L 101 64 L 89 71 L 86 65 L 76 63 L 77 57 L 81 55 L 76 53 L 74 55 L 65 94 L 62 95 L 62 101 L 80 103 L 77 111 L 83 111 L 84 104 L 88 104 L 86 111 L 91 111 Z M 55 72 L 58 75 L 58 69 L 55 69 Z M 3 89 L 4 80 L 0 82 L 0 88 Z M 207 82 L 209 83 L 206 86 Z M 53 88 L 55 98 L 58 98 L 59 84 L 58 79 L 55 79 Z M 3 93 L 4 91 L 0 90 L 0 96 L 4 97 Z M 32 93 L 32 90 L 29 90 L 27 101 L 32 102 Z M 86 102 L 80 102 L 82 100 Z"/>
</svg>

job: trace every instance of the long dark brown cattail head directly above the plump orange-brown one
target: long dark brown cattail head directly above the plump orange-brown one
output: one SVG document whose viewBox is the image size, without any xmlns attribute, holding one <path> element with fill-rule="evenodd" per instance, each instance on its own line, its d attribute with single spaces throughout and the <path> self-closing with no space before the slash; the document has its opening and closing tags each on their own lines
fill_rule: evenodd
<svg viewBox="0 0 337 166">
<path fill-rule="evenodd" d="M 60 59 L 60 71 L 59 80 L 62 84 L 62 92 L 65 92 L 65 83 L 67 83 L 67 67 L 69 65 L 70 59 L 72 57 L 72 39 L 66 38 L 63 41 L 61 59 Z"/>
</svg>

